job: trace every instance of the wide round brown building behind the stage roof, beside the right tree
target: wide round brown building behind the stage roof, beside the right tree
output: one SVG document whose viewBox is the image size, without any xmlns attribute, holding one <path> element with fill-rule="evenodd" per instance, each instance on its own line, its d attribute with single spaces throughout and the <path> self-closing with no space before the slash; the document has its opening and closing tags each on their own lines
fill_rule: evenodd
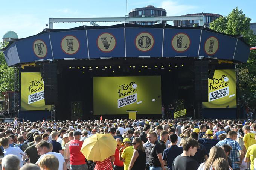
<svg viewBox="0 0 256 170">
<path fill-rule="evenodd" d="M 204 25 L 207 27 L 210 27 L 210 22 L 213 20 L 216 20 L 219 17 L 223 17 L 222 15 L 219 14 L 212 14 L 212 13 L 197 13 L 197 14 L 186 14 L 183 16 L 194 16 L 194 15 L 204 15 Z M 177 27 L 193 27 L 194 24 L 197 24 L 199 26 L 199 20 L 179 20 L 179 21 L 174 21 L 173 25 Z"/>
</svg>

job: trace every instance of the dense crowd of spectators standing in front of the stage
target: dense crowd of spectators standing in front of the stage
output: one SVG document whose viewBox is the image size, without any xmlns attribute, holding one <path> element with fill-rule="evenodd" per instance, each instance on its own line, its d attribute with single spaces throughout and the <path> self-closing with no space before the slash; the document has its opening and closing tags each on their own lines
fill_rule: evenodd
<svg viewBox="0 0 256 170">
<path fill-rule="evenodd" d="M 116 151 L 103 161 L 87 160 L 81 147 L 97 133 L 112 135 Z M 256 169 L 253 120 L 15 118 L 0 123 L 0 144 L 2 170 Z"/>
</svg>

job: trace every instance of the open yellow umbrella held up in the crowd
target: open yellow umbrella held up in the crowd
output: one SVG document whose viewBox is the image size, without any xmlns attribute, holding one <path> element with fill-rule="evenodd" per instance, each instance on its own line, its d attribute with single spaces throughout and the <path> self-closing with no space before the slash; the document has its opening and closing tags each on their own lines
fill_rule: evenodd
<svg viewBox="0 0 256 170">
<path fill-rule="evenodd" d="M 94 134 L 84 140 L 81 152 L 87 160 L 104 161 L 114 155 L 117 141 L 111 134 Z"/>
</svg>

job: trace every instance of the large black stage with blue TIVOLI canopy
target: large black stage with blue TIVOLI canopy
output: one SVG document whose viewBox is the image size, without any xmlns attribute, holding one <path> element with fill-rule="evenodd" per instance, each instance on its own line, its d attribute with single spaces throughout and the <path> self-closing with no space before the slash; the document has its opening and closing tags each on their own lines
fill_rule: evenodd
<svg viewBox="0 0 256 170">
<path fill-rule="evenodd" d="M 93 77 L 148 75 L 161 76 L 162 104 L 174 103 L 177 111 L 186 108 L 187 117 L 235 118 L 237 108 L 202 108 L 202 102 L 208 101 L 208 78 L 214 71 L 235 70 L 250 53 L 241 36 L 166 24 L 45 29 L 2 50 L 8 65 L 18 68 L 19 85 L 22 73 L 40 72 L 43 78 L 45 104 L 52 109 L 22 110 L 19 101 L 16 110 L 29 120 L 99 119 L 93 111 Z M 161 114 L 137 117 L 157 119 Z"/>
</svg>

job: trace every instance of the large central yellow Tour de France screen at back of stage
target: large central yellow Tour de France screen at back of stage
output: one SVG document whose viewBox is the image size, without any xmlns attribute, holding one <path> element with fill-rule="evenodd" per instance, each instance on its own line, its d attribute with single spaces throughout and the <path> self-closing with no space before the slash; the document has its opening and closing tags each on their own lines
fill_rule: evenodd
<svg viewBox="0 0 256 170">
<path fill-rule="evenodd" d="M 161 114 L 161 77 L 94 77 L 93 107 L 94 115 Z"/>
</svg>

